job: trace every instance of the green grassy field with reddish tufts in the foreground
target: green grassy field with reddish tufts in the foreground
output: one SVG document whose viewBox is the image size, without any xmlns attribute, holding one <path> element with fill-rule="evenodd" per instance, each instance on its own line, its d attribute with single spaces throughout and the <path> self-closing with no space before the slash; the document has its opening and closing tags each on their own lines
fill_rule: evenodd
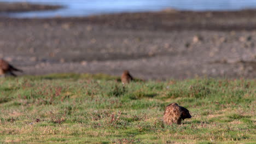
<svg viewBox="0 0 256 144">
<path fill-rule="evenodd" d="M 255 80 L 132 82 L 107 75 L 0 79 L 0 143 L 255 143 Z M 190 110 L 165 125 L 165 106 Z"/>
</svg>

